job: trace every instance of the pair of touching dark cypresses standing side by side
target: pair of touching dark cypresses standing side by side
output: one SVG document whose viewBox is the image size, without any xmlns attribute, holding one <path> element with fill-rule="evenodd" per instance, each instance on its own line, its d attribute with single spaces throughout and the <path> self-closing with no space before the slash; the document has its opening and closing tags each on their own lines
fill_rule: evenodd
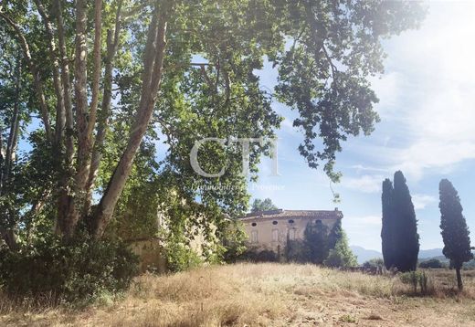
<svg viewBox="0 0 475 327">
<path fill-rule="evenodd" d="M 417 219 L 409 188 L 403 173 L 397 171 L 394 187 L 389 180 L 383 183 L 383 256 L 387 269 L 416 270 L 419 253 Z"/>
</svg>

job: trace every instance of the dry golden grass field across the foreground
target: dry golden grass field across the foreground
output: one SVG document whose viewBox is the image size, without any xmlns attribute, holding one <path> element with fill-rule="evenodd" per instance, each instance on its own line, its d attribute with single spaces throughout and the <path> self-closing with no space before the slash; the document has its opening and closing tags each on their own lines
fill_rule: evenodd
<svg viewBox="0 0 475 327">
<path fill-rule="evenodd" d="M 475 272 L 428 271 L 430 295 L 397 277 L 296 264 L 236 264 L 146 275 L 123 298 L 65 308 L 12 308 L 1 326 L 475 326 Z"/>
</svg>

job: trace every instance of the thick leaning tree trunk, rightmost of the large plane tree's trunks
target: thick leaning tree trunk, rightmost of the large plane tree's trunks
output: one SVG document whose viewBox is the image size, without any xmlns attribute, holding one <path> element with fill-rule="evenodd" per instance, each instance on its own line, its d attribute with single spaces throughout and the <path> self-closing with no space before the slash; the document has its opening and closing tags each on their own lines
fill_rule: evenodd
<svg viewBox="0 0 475 327">
<path fill-rule="evenodd" d="M 127 147 L 122 153 L 121 160 L 112 174 L 109 185 L 100 199 L 100 204 L 94 215 L 93 235 L 96 238 L 102 236 L 105 227 L 111 220 L 114 208 L 131 172 L 133 157 L 137 153 L 152 116 L 163 73 L 166 47 L 165 34 L 167 18 L 170 15 L 170 5 L 166 2 L 160 10 L 157 5 L 153 12 L 153 20 L 149 27 L 144 52 L 142 94 L 139 109 L 132 125 Z M 160 17 L 158 17 L 159 13 Z"/>
</svg>

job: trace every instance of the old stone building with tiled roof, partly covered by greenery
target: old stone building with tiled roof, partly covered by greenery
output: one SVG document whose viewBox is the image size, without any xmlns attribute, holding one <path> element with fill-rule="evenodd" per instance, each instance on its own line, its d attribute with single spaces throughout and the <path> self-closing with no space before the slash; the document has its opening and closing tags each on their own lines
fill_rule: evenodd
<svg viewBox="0 0 475 327">
<path fill-rule="evenodd" d="M 309 222 L 320 223 L 330 230 L 343 213 L 334 210 L 270 210 L 250 213 L 239 220 L 248 235 L 248 247 L 279 253 L 287 239 L 303 239 Z"/>
</svg>

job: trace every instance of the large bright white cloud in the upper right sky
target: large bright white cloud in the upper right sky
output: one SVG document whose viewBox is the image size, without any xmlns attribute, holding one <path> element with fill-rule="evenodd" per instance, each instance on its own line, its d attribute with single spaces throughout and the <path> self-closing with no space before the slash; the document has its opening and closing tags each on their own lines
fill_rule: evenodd
<svg viewBox="0 0 475 327">
<path fill-rule="evenodd" d="M 388 42 L 394 71 L 375 85 L 381 107 L 395 113 L 398 103 L 396 115 L 382 110 L 383 119 L 409 133 L 392 168 L 415 179 L 475 158 L 475 3 L 430 7 L 420 30 Z"/>
</svg>

